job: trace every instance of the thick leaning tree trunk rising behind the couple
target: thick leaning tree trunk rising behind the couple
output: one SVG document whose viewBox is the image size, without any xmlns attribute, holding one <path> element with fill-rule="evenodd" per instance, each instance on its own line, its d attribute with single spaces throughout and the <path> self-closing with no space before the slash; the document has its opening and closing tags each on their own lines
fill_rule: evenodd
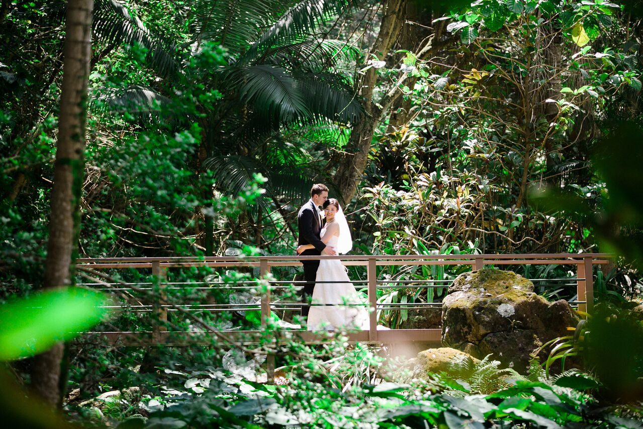
<svg viewBox="0 0 643 429">
<path fill-rule="evenodd" d="M 397 40 L 397 35 L 404 22 L 405 4 L 404 0 L 386 0 L 385 2 L 379 34 L 370 51 L 370 54 L 376 55 L 379 60 L 386 57 Z M 368 57 L 372 57 L 370 54 Z M 348 150 L 351 153 L 346 153 L 340 158 L 337 172 L 333 177 L 344 205 L 357 192 L 359 181 L 368 162 L 368 151 L 370 151 L 373 133 L 380 116 L 379 107 L 372 100 L 376 83 L 377 70 L 370 68 L 361 80 L 359 91 L 359 95 L 364 100 L 365 117 L 352 129 L 348 144 Z"/>
</svg>

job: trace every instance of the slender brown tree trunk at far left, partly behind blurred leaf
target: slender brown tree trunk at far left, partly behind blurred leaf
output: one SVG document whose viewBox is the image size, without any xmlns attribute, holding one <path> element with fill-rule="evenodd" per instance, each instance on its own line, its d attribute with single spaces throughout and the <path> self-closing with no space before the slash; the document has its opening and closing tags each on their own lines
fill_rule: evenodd
<svg viewBox="0 0 643 429">
<path fill-rule="evenodd" d="M 72 284 L 78 252 L 93 6 L 93 0 L 67 2 L 59 135 L 44 288 Z M 52 406 L 60 406 L 62 401 L 59 381 L 63 352 L 63 344 L 58 343 L 33 361 L 32 388 Z"/>
</svg>

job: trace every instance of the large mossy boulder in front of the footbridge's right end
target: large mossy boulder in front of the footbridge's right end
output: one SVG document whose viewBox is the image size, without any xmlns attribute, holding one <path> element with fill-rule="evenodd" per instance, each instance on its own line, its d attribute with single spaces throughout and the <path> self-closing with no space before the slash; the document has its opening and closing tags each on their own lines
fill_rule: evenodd
<svg viewBox="0 0 643 429">
<path fill-rule="evenodd" d="M 579 321 L 565 300 L 548 302 L 512 271 L 459 275 L 442 302 L 442 345 L 525 370 L 531 355 Z M 543 356 L 541 356 L 542 358 Z"/>
</svg>

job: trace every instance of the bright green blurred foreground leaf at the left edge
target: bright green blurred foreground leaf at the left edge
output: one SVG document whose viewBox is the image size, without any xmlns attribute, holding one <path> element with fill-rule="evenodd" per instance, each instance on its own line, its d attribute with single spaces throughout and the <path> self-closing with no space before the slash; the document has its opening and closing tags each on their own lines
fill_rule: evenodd
<svg viewBox="0 0 643 429">
<path fill-rule="evenodd" d="M 107 298 L 82 288 L 46 291 L 0 307 L 0 360 L 15 360 L 69 340 L 107 314 Z"/>
</svg>

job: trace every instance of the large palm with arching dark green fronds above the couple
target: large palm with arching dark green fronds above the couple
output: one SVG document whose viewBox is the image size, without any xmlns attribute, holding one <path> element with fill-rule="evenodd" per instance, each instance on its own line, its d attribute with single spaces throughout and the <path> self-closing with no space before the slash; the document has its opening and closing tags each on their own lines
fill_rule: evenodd
<svg viewBox="0 0 643 429">
<path fill-rule="evenodd" d="M 228 61 L 213 73 L 180 71 L 187 80 L 181 82 L 184 79 L 174 77 L 170 80 L 174 88 L 167 89 L 183 92 L 186 85 L 197 85 L 221 91 L 214 105 L 199 103 L 197 111 L 188 112 L 195 115 L 194 119 L 201 117 L 205 155 L 199 163 L 203 169 L 212 170 L 217 188 L 237 194 L 254 172 L 261 172 L 269 179 L 270 197 L 306 194 L 309 181 L 319 172 L 306 152 L 284 140 L 280 131 L 359 121 L 361 106 L 349 76 L 341 71 L 361 53 L 345 42 L 329 39 L 323 29 L 354 5 L 349 0 L 240 4 L 200 0 L 191 6 L 190 17 L 186 18 L 186 43 L 191 51 L 179 51 L 179 57 L 189 59 L 215 42 L 225 48 Z M 244 11 L 243 19 L 235 12 L 237 8 Z M 109 35 L 109 42 L 116 42 L 116 37 L 121 42 L 138 42 L 149 50 L 145 58 L 157 62 L 161 60 L 156 58 L 161 58 L 163 64 L 167 63 L 165 58 L 171 52 L 158 52 L 162 46 L 159 38 L 143 37 L 149 30 L 140 20 L 132 19 L 123 6 L 118 12 L 129 21 L 113 23 L 113 19 L 100 27 Z M 315 34 L 318 30 L 321 33 Z M 168 100 L 162 88 L 124 83 L 118 91 L 103 95 L 107 104 L 120 110 L 149 111 L 156 103 L 163 111 L 162 105 Z M 166 115 L 190 117 L 177 113 L 176 105 L 170 106 L 165 109 Z M 260 200 L 264 206 L 268 201 Z"/>
</svg>

